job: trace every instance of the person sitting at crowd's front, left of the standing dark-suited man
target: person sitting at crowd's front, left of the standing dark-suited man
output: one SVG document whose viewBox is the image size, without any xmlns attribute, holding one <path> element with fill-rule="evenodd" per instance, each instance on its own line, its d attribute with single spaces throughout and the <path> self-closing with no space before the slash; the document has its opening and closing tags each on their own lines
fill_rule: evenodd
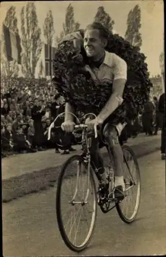
<svg viewBox="0 0 166 257">
<path fill-rule="evenodd" d="M 26 137 L 23 133 L 23 128 L 21 126 L 17 127 L 16 134 L 13 135 L 13 142 L 14 151 L 17 151 L 19 153 L 28 152 L 28 153 L 34 153 L 36 150 L 31 148 L 31 144 L 28 140 L 26 140 Z"/>
</svg>

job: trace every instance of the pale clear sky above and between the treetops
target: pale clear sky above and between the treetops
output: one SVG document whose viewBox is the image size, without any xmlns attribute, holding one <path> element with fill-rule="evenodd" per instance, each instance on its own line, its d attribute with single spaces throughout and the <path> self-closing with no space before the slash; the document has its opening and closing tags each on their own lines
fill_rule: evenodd
<svg viewBox="0 0 166 257">
<path fill-rule="evenodd" d="M 124 37 L 127 25 L 127 14 L 136 4 L 141 9 L 142 47 L 141 52 L 145 54 L 148 69 L 151 75 L 160 74 L 159 55 L 164 47 L 164 11 L 161 0 L 130 0 L 130 1 L 34 1 L 39 19 L 39 26 L 43 30 L 44 20 L 48 10 L 52 10 L 54 38 L 62 31 L 67 6 L 71 3 L 75 11 L 75 21 L 80 23 L 80 28 L 85 28 L 93 22 L 99 6 L 115 21 L 114 31 Z M 26 2 L 1 2 L 0 27 L 5 19 L 6 11 L 13 5 L 16 8 L 18 27 L 20 30 L 20 13 Z M 42 40 L 45 41 L 42 34 Z"/>
</svg>

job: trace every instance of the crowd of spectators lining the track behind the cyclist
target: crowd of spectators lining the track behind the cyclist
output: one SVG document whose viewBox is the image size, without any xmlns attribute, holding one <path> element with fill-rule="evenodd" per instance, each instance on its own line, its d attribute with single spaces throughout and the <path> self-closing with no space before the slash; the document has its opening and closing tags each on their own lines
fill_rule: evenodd
<svg viewBox="0 0 166 257">
<path fill-rule="evenodd" d="M 157 134 L 161 127 L 158 101 L 147 102 L 144 112 L 135 123 L 127 124 L 122 137 L 136 137 L 140 132 Z M 48 127 L 58 114 L 64 112 L 64 100 L 51 82 L 45 79 L 20 79 L 1 83 L 1 143 L 3 156 L 9 153 L 44 151 L 54 148 L 56 153 L 68 154 L 75 151 L 72 144 L 77 139 L 61 130 L 63 120 L 59 118 L 56 128 L 47 140 Z M 61 139 L 60 148 L 59 140 Z M 63 143 L 64 142 L 64 143 Z"/>
</svg>

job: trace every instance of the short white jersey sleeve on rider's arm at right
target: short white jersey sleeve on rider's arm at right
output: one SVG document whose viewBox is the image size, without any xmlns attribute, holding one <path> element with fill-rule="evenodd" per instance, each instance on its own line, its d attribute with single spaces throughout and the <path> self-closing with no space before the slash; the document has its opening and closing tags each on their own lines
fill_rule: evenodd
<svg viewBox="0 0 166 257">
<path fill-rule="evenodd" d="M 114 54 L 114 80 L 125 79 L 127 80 L 127 64 L 126 62 Z"/>
</svg>

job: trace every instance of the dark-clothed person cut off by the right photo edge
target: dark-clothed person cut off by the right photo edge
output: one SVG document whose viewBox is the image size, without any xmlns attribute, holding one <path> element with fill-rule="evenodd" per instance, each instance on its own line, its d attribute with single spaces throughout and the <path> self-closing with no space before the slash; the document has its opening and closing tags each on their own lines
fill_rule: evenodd
<svg viewBox="0 0 166 257">
<path fill-rule="evenodd" d="M 159 98 L 158 103 L 159 112 L 162 114 L 162 128 L 161 128 L 161 160 L 165 160 L 165 93 Z"/>
</svg>

